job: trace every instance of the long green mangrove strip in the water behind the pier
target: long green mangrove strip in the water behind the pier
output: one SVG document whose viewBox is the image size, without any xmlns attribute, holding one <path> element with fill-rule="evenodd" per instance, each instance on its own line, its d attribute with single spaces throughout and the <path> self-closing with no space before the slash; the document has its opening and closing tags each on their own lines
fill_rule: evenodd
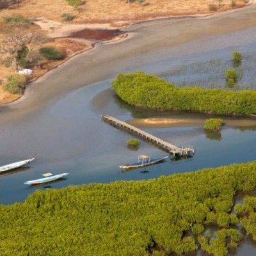
<svg viewBox="0 0 256 256">
<path fill-rule="evenodd" d="M 113 88 L 122 100 L 132 106 L 219 115 L 256 113 L 255 90 L 233 92 L 202 87 L 180 88 L 143 72 L 118 74 Z"/>
</svg>

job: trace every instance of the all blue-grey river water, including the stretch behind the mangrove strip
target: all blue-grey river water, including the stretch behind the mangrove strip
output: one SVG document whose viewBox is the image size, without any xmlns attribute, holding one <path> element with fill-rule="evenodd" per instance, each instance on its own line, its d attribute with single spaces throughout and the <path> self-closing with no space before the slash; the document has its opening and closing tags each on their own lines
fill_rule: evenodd
<svg viewBox="0 0 256 256">
<path fill-rule="evenodd" d="M 0 176 L 0 203 L 22 202 L 36 189 L 63 188 L 90 182 L 152 179 L 161 175 L 255 160 L 256 120 L 255 124 L 244 125 L 248 120 L 253 123 L 253 119 L 224 117 L 224 121 L 236 119 L 238 125 L 225 125 L 218 134 L 205 133 L 202 122 L 180 127 L 143 127 L 177 146 L 193 145 L 195 156 L 180 161 L 168 160 L 149 166 L 147 170 L 123 173 L 118 166 L 134 163 L 140 154 L 161 157 L 166 156 L 166 153 L 145 141 L 140 141 L 138 150 L 127 148 L 126 141 L 131 135 L 100 119 L 101 114 L 106 114 L 124 121 L 157 116 L 205 120 L 209 116 L 157 113 L 131 108 L 110 89 L 111 81 L 118 71 L 143 70 L 158 74 L 180 86 L 200 84 L 211 88 L 218 84 L 223 87 L 224 70 L 232 67 L 230 52 L 241 51 L 244 59 L 241 67 L 237 67 L 242 74 L 239 86 L 255 88 L 255 46 L 256 28 L 252 27 L 193 40 L 170 49 L 157 49 L 149 54 L 131 56 L 129 66 L 120 65 L 115 68 L 108 79 L 74 90 L 51 102 L 46 108 L 24 116 L 22 120 L 18 118 L 12 122 L 3 122 L 0 131 L 0 164 L 31 157 L 35 157 L 35 161 L 29 164 L 29 168 Z M 40 178 L 45 172 L 69 172 L 70 175 L 66 180 L 47 186 L 28 188 L 23 184 L 26 180 Z M 255 247 L 250 239 L 241 244 L 236 255 L 255 255 Z"/>
</svg>

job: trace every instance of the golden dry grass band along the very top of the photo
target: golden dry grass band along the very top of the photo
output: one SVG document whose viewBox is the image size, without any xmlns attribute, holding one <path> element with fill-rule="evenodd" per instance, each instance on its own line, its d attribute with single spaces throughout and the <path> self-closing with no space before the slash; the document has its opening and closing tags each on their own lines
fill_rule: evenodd
<svg viewBox="0 0 256 256">
<path fill-rule="evenodd" d="M 62 13 L 77 15 L 75 22 L 108 23 L 132 22 L 134 20 L 166 17 L 170 15 L 188 15 L 209 13 L 209 4 L 218 6 L 216 0 L 146 0 L 146 4 L 126 3 L 125 0 L 87 0 L 77 13 L 65 0 L 24 0 L 15 10 L 3 10 L 0 17 L 22 14 L 26 17 L 45 17 L 61 20 Z M 218 11 L 231 8 L 231 0 L 221 1 Z M 244 6 L 243 0 L 235 0 L 235 7 Z M 61 6 L 61 8 L 60 8 Z"/>
</svg>

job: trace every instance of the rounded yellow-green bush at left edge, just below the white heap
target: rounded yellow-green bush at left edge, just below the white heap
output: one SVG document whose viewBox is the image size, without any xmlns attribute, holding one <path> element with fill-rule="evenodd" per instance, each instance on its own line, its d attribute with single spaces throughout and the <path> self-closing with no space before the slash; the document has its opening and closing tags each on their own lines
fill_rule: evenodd
<svg viewBox="0 0 256 256">
<path fill-rule="evenodd" d="M 21 94 L 26 88 L 26 76 L 13 74 L 7 77 L 6 83 L 3 84 L 3 89 L 12 94 Z"/>
</svg>

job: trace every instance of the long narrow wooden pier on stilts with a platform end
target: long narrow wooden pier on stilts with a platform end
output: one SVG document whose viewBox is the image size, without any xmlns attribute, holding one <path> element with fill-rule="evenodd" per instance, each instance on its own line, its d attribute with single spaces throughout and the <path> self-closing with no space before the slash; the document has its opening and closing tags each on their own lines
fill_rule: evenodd
<svg viewBox="0 0 256 256">
<path fill-rule="evenodd" d="M 182 148 L 177 147 L 175 145 L 172 145 L 168 141 L 161 140 L 160 138 L 157 138 L 156 136 L 149 134 L 148 132 L 145 132 L 137 127 L 134 127 L 133 125 L 127 124 L 126 122 L 123 122 L 121 120 L 118 120 L 117 118 L 113 116 L 107 116 L 102 115 L 101 119 L 108 123 L 113 125 L 114 127 L 118 129 L 122 129 L 126 132 L 132 133 L 143 140 L 147 140 L 148 142 L 157 145 L 157 147 L 161 148 L 164 151 L 169 152 L 174 157 L 176 156 L 192 156 L 194 154 L 194 147 L 191 145 L 184 146 Z"/>
</svg>

